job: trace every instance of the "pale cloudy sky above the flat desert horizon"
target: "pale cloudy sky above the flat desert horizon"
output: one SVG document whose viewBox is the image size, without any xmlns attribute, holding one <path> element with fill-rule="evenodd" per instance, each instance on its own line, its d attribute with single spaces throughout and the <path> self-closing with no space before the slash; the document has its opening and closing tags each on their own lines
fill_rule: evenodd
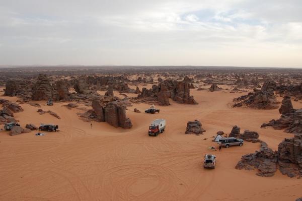
<svg viewBox="0 0 302 201">
<path fill-rule="evenodd" d="M 0 0 L 0 64 L 302 67 L 302 1 Z"/>
</svg>

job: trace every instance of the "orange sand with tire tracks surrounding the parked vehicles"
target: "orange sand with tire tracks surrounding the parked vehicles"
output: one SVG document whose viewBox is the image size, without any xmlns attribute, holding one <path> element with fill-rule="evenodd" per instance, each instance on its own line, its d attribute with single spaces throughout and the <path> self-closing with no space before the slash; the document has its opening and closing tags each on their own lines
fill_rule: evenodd
<svg viewBox="0 0 302 201">
<path fill-rule="evenodd" d="M 3 92 L 2 92 L 3 94 Z M 71 110 L 55 103 L 40 115 L 37 107 L 22 104 L 15 113 L 21 126 L 26 123 L 54 123 L 58 132 L 35 136 L 36 131 L 11 137 L 0 131 L 0 200 L 295 200 L 302 196 L 302 179 L 289 178 L 279 171 L 273 177 L 260 177 L 256 171 L 236 170 L 241 156 L 259 150 L 259 143 L 246 142 L 221 152 L 212 136 L 218 130 L 230 133 L 233 125 L 258 131 L 260 139 L 276 150 L 292 134 L 260 125 L 279 118 L 278 109 L 232 108 L 232 99 L 243 94 L 210 93 L 191 90 L 198 105 L 170 101 L 159 106 L 159 114 L 145 114 L 147 104 L 128 107 L 131 129 L 114 128 L 107 123 L 79 119 Z M 16 97 L 1 97 L 16 101 Z M 280 97 L 278 97 L 281 100 Z M 302 104 L 293 102 L 295 108 Z M 81 107 L 84 107 L 83 105 Z M 142 113 L 134 113 L 133 108 Z M 148 137 L 150 121 L 167 120 L 166 131 Z M 204 135 L 185 135 L 189 120 L 198 119 Z M 206 140 L 204 140 L 206 139 Z M 215 154 L 216 169 L 202 167 L 204 154 Z"/>
</svg>

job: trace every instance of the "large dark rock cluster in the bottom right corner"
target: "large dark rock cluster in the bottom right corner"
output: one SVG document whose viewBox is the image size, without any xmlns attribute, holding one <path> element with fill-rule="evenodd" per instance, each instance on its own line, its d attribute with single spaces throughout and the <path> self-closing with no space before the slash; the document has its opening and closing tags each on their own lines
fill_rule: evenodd
<svg viewBox="0 0 302 201">
<path fill-rule="evenodd" d="M 289 177 L 302 176 L 302 135 L 285 138 L 278 151 L 272 151 L 261 143 L 260 151 L 242 156 L 236 169 L 257 169 L 259 176 L 273 176 L 279 169 Z"/>
</svg>

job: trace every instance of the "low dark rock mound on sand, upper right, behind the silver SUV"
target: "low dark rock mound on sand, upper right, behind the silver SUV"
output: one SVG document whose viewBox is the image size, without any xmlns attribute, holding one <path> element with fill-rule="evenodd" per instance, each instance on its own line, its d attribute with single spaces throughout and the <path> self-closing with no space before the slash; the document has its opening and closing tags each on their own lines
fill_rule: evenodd
<svg viewBox="0 0 302 201">
<path fill-rule="evenodd" d="M 240 96 L 233 99 L 233 107 L 252 107 L 257 109 L 275 109 L 278 108 L 276 97 L 272 91 L 263 91 L 254 89 L 254 92 L 248 95 Z"/>
</svg>

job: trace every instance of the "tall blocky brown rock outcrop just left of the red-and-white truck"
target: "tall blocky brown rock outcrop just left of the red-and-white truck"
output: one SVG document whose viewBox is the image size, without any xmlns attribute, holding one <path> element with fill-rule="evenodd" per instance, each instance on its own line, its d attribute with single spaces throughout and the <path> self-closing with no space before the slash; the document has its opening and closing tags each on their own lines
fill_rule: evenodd
<svg viewBox="0 0 302 201">
<path fill-rule="evenodd" d="M 126 117 L 126 106 L 114 96 L 95 98 L 92 108 L 80 116 L 86 121 L 107 122 L 114 127 L 132 127 L 131 120 Z"/>
</svg>

